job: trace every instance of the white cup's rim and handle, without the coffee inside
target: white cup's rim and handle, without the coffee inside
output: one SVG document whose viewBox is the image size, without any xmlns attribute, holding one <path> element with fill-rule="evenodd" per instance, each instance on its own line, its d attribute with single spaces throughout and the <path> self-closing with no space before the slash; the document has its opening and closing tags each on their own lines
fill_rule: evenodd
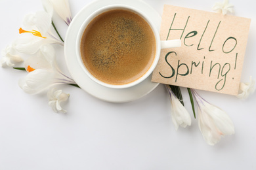
<svg viewBox="0 0 256 170">
<path fill-rule="evenodd" d="M 133 81 L 133 82 L 129 82 L 127 84 L 108 84 L 106 82 L 102 82 L 101 80 L 98 80 L 95 76 L 93 76 L 88 69 L 85 67 L 84 63 L 83 63 L 83 59 L 81 58 L 81 39 L 83 37 L 83 33 L 85 31 L 85 29 L 87 28 L 87 25 L 90 24 L 90 22 L 96 18 L 96 16 L 107 12 L 109 10 L 114 10 L 114 9 L 123 9 L 123 10 L 129 10 L 131 12 L 134 12 L 135 14 L 138 14 L 139 16 L 141 16 L 147 23 L 148 25 L 150 25 L 153 33 L 154 33 L 154 37 L 156 39 L 156 55 L 154 57 L 154 60 L 152 62 L 152 65 L 150 66 L 150 68 L 148 69 L 148 71 L 146 71 L 146 73 L 144 73 L 144 75 L 142 75 L 139 79 Z M 148 18 L 146 16 L 146 14 L 144 14 L 143 12 L 141 12 L 139 9 L 135 9 L 134 7 L 128 6 L 128 5 L 109 5 L 106 7 L 102 7 L 101 9 L 96 10 L 95 12 L 93 12 L 93 14 L 91 14 L 86 20 L 85 22 L 83 22 L 83 24 L 81 25 L 79 32 L 77 34 L 77 41 L 75 44 L 75 50 L 77 53 L 77 60 L 79 62 L 79 65 L 81 66 L 81 68 L 83 69 L 83 71 L 89 76 L 89 78 L 91 78 L 92 80 L 94 80 L 96 83 L 105 86 L 107 88 L 129 88 L 131 86 L 135 86 L 136 84 L 139 84 L 140 82 L 142 82 L 143 80 L 145 80 L 148 76 L 151 75 L 151 73 L 154 71 L 158 60 L 160 58 L 160 52 L 162 48 L 171 48 L 171 47 L 179 47 L 181 46 L 181 40 L 177 39 L 177 40 L 171 40 L 171 41 L 160 41 L 160 34 L 158 29 L 156 29 L 156 25 L 154 24 L 154 22 L 152 22 L 152 20 L 150 20 L 150 18 Z"/>
</svg>

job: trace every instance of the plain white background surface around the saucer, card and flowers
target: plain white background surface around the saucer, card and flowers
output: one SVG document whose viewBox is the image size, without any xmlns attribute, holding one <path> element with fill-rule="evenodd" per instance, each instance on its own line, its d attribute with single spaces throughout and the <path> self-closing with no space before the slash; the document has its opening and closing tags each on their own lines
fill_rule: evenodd
<svg viewBox="0 0 256 170">
<path fill-rule="evenodd" d="M 218 0 L 146 0 L 160 14 L 163 4 L 208 10 Z M 91 0 L 70 0 L 72 16 Z M 256 10 L 253 0 L 230 0 L 236 16 L 251 18 L 242 81 L 256 78 Z M 0 48 L 18 37 L 25 14 L 43 10 L 37 0 L 0 0 Z M 62 37 L 68 27 L 53 18 Z M 56 47 L 64 72 L 62 47 Z M 68 74 L 68 73 L 67 73 Z M 198 119 L 175 131 L 164 86 L 129 103 L 108 103 L 68 85 L 57 86 L 70 98 L 56 114 L 45 93 L 28 95 L 18 86 L 26 72 L 0 67 L 0 169 L 256 169 L 256 97 L 246 100 L 198 90 L 225 110 L 235 135 L 215 146 L 203 140 Z M 192 116 L 186 89 L 184 103 Z"/>
</svg>

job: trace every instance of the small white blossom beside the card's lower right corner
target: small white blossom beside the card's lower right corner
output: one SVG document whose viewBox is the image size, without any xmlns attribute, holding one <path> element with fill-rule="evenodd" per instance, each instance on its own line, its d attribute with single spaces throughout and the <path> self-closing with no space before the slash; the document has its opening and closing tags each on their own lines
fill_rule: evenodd
<svg viewBox="0 0 256 170">
<path fill-rule="evenodd" d="M 253 92 L 255 92 L 255 79 L 252 79 L 252 76 L 250 76 L 249 82 L 240 82 L 237 97 L 240 99 L 246 99 Z"/>
</svg>

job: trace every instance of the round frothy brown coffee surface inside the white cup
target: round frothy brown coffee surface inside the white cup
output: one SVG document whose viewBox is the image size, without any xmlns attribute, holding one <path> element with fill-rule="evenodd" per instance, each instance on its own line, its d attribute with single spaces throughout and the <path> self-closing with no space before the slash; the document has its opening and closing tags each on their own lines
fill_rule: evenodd
<svg viewBox="0 0 256 170">
<path fill-rule="evenodd" d="M 148 23 L 129 10 L 96 16 L 81 40 L 81 57 L 89 72 L 108 84 L 127 84 L 152 65 L 156 40 Z"/>
</svg>

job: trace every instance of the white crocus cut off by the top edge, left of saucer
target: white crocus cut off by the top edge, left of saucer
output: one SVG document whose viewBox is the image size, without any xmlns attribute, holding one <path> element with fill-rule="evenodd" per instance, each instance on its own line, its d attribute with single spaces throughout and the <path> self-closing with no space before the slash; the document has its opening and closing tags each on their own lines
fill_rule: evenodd
<svg viewBox="0 0 256 170">
<path fill-rule="evenodd" d="M 58 16 L 70 25 L 72 16 L 70 12 L 70 4 L 68 0 L 42 0 L 44 9 L 50 14 L 53 13 L 53 9 L 57 12 Z"/>
</svg>

